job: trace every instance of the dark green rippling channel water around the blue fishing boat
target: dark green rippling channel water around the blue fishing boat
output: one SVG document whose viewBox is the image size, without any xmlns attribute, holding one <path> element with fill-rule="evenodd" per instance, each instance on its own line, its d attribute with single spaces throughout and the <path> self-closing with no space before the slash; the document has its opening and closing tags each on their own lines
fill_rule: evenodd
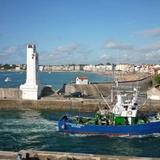
<svg viewBox="0 0 160 160">
<path fill-rule="evenodd" d="M 57 131 L 57 120 L 62 114 L 51 110 L 1 110 L 0 150 L 160 157 L 160 135 L 114 138 L 63 134 Z"/>
</svg>

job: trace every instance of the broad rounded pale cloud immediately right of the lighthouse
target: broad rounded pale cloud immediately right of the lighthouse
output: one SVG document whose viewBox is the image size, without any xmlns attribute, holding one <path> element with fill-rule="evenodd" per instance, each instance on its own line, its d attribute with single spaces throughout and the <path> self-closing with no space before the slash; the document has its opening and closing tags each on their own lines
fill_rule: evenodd
<svg viewBox="0 0 160 160">
<path fill-rule="evenodd" d="M 89 55 L 91 53 L 93 53 L 93 51 L 88 47 L 71 43 L 68 45 L 60 45 L 51 51 L 43 52 L 40 60 L 43 60 L 43 64 L 87 63 L 90 60 Z"/>
</svg>

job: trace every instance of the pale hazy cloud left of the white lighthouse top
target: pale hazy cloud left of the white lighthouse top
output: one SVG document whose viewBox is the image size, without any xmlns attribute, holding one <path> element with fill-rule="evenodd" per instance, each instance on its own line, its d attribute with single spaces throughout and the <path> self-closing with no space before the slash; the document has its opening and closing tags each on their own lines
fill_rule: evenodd
<svg viewBox="0 0 160 160">
<path fill-rule="evenodd" d="M 26 45 L 16 45 L 0 50 L 0 63 L 25 63 Z"/>
</svg>

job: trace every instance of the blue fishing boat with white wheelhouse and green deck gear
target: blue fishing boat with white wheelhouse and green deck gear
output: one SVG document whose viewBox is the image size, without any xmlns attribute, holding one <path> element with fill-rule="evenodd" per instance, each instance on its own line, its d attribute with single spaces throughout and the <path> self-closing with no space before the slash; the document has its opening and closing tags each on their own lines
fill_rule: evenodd
<svg viewBox="0 0 160 160">
<path fill-rule="evenodd" d="M 131 100 L 117 94 L 112 108 L 103 108 L 95 117 L 63 115 L 58 129 L 63 133 L 107 136 L 137 136 L 160 133 L 160 114 L 145 115 L 139 112 L 138 91 L 134 89 Z"/>
</svg>

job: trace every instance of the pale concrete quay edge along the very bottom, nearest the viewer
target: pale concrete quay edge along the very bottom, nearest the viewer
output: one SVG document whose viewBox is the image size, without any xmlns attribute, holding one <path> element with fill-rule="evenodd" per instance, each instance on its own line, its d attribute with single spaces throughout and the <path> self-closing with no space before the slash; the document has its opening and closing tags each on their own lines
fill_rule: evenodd
<svg viewBox="0 0 160 160">
<path fill-rule="evenodd" d="M 26 153 L 29 153 L 31 160 L 160 160 L 160 158 L 149 157 L 130 157 L 130 156 L 111 156 L 111 155 L 94 155 L 66 152 L 46 152 L 22 150 L 20 152 L 0 151 L 0 160 L 16 160 L 17 154 L 20 153 L 25 158 Z"/>
</svg>

